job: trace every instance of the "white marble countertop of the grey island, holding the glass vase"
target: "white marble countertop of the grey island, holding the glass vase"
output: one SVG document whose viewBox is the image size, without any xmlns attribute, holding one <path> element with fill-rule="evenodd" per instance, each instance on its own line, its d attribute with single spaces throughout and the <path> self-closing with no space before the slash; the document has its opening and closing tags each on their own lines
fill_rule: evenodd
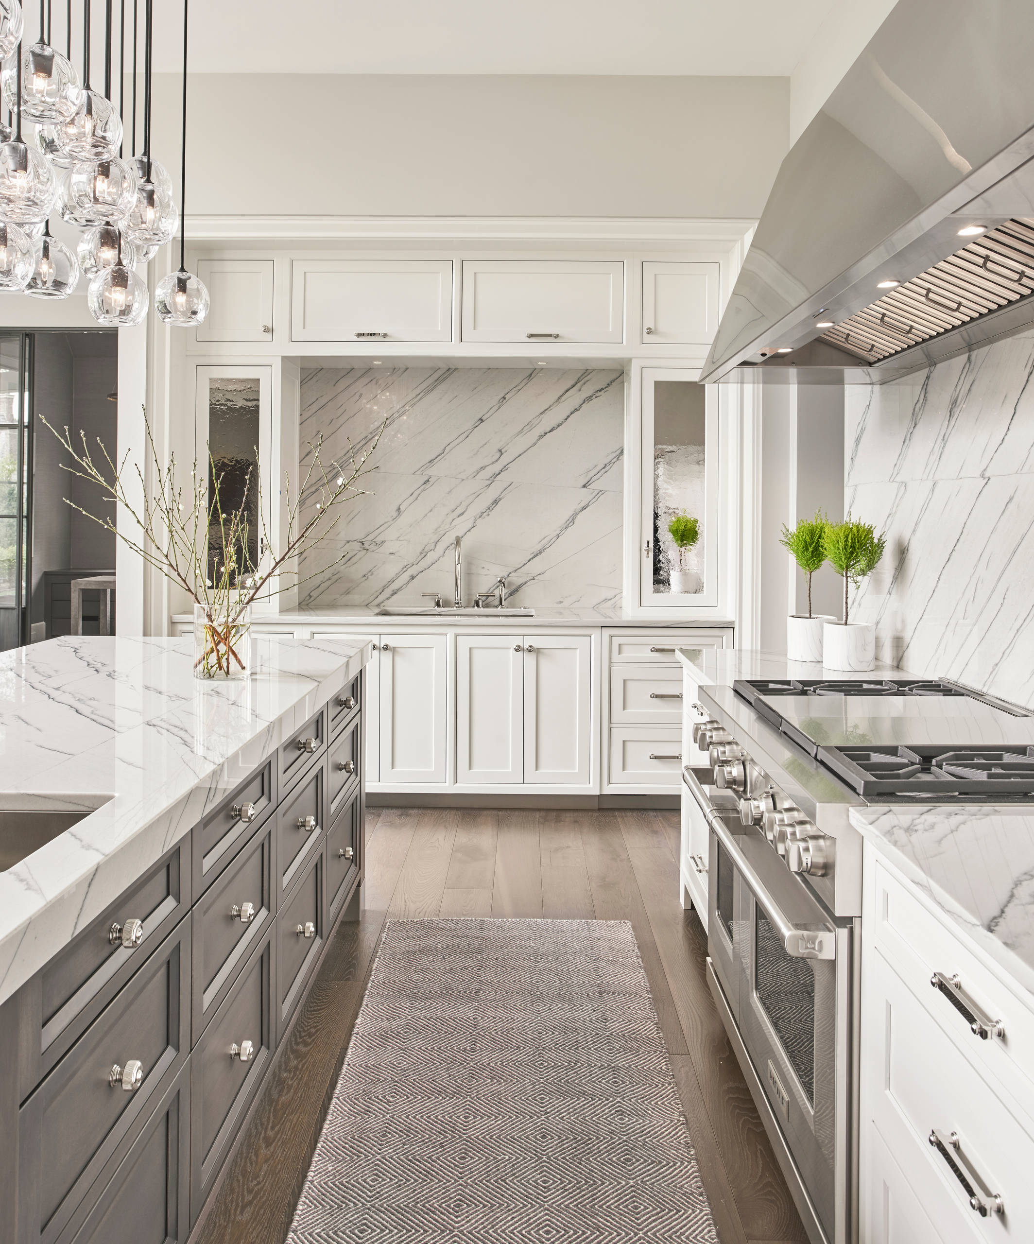
<svg viewBox="0 0 1034 1244">
<path fill-rule="evenodd" d="M 351 682 L 368 643 L 255 639 L 205 684 L 193 641 L 67 637 L 0 654 L 0 807 L 90 812 L 0 872 L 0 1003 Z"/>
</svg>

